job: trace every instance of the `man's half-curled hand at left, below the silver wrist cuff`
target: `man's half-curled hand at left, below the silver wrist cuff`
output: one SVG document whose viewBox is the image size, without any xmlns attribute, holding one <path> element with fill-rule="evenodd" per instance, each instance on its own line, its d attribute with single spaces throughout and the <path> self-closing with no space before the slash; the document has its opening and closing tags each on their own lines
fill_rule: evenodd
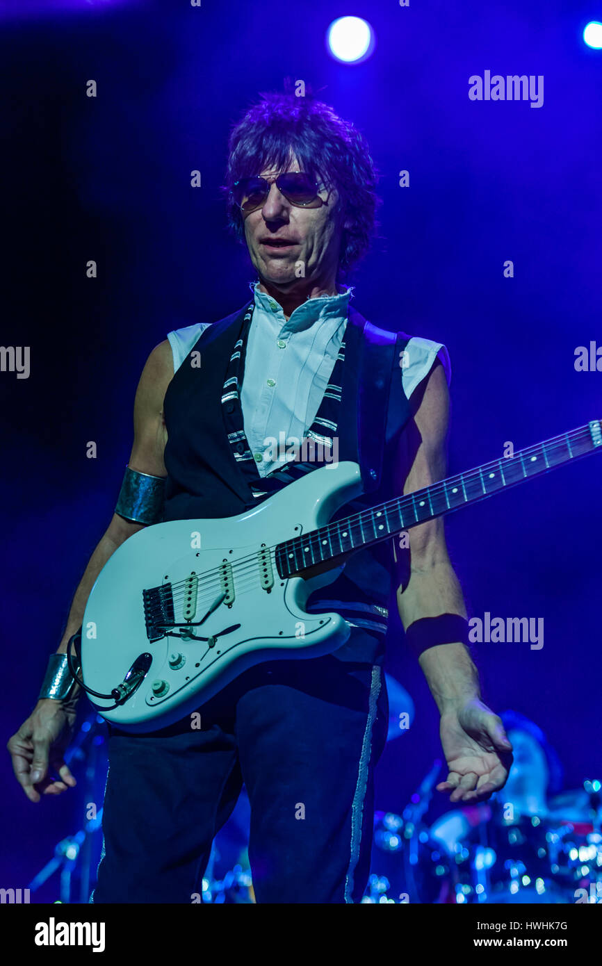
<svg viewBox="0 0 602 966">
<path fill-rule="evenodd" d="M 72 703 L 44 697 L 10 739 L 14 775 L 30 802 L 39 802 L 41 792 L 60 795 L 76 784 L 64 758 L 74 721 Z"/>
</svg>

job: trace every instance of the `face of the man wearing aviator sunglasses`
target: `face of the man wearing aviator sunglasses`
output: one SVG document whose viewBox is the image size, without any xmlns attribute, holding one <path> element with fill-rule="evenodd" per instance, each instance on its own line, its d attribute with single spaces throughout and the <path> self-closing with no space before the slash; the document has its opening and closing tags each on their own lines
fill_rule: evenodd
<svg viewBox="0 0 602 966">
<path fill-rule="evenodd" d="M 301 171 L 297 158 L 285 170 Z M 280 173 L 276 168 L 259 172 L 267 179 Z M 334 188 L 329 190 L 322 182 L 319 186 L 324 202 L 319 208 L 291 204 L 272 183 L 263 208 L 243 213 L 246 243 L 260 279 L 285 292 L 295 286 L 303 288 L 308 280 L 333 284 L 336 277 L 341 241 L 339 196 Z M 288 243 L 271 244 L 274 239 Z"/>
</svg>

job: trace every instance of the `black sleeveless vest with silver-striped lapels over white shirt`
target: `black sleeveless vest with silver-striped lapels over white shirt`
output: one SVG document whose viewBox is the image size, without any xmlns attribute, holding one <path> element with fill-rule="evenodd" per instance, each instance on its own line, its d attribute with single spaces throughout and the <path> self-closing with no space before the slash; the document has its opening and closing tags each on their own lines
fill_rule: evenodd
<svg viewBox="0 0 602 966">
<path fill-rule="evenodd" d="M 236 516 L 324 465 L 318 452 L 311 462 L 289 463 L 268 476 L 257 470 L 244 435 L 240 400 L 252 306 L 253 300 L 207 327 L 167 388 L 164 521 Z M 395 335 L 370 327 L 349 306 L 344 361 L 337 360 L 329 381 L 335 381 L 335 373 L 342 376 L 342 391 L 340 396 L 334 387 L 330 392 L 335 402 L 329 404 L 329 419 L 323 418 L 323 398 L 312 429 L 319 428 L 321 438 L 337 437 L 339 462 L 358 463 L 363 494 L 341 507 L 332 520 L 399 496 L 394 468 L 384 454 L 396 454 L 410 416 L 399 362 L 409 339 L 404 332 Z M 190 364 L 193 353 L 200 354 L 200 368 Z M 407 469 L 400 474 L 397 468 L 395 478 L 403 478 Z M 409 560 L 408 551 L 396 554 Z M 383 662 L 392 563 L 391 540 L 363 548 L 334 582 L 308 598 L 308 611 L 337 611 L 352 624 L 351 639 L 334 652 L 339 660 Z"/>
</svg>

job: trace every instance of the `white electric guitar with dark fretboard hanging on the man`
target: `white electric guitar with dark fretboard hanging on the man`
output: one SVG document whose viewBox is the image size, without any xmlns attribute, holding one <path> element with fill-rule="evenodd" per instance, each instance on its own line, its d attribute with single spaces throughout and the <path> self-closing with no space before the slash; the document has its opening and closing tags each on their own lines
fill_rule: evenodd
<svg viewBox="0 0 602 966">
<path fill-rule="evenodd" d="M 304 605 L 349 554 L 596 451 L 600 420 L 333 523 L 362 492 L 356 463 L 308 472 L 236 517 L 147 526 L 109 557 L 88 598 L 88 695 L 116 727 L 152 731 L 245 668 L 328 654 L 350 626 Z"/>
</svg>

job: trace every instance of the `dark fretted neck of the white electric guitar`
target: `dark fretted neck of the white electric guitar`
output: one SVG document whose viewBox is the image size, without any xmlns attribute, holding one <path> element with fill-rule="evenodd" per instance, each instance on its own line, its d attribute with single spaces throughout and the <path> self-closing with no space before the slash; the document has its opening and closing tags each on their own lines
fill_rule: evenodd
<svg viewBox="0 0 602 966">
<path fill-rule="evenodd" d="M 602 451 L 602 421 L 598 419 L 278 544 L 278 571 L 281 577 L 293 577 L 314 564 L 380 543 L 401 530 L 493 497 L 596 450 Z"/>
</svg>

